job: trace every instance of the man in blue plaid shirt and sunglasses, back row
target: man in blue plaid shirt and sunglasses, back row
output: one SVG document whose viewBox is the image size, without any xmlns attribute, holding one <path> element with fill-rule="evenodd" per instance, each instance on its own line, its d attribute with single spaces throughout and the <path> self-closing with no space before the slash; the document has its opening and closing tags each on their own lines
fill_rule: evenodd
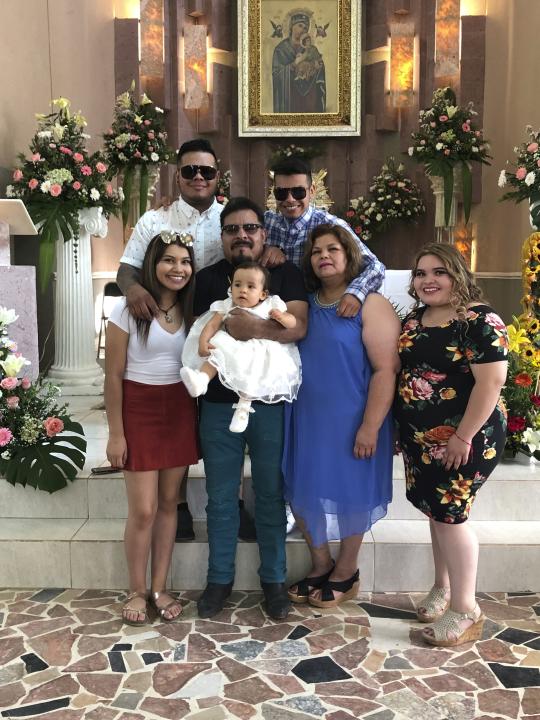
<svg viewBox="0 0 540 720">
<path fill-rule="evenodd" d="M 364 257 L 362 274 L 351 282 L 338 307 L 338 315 L 354 317 L 366 295 L 380 288 L 384 280 L 384 265 L 344 220 L 310 204 L 314 188 L 311 168 L 307 163 L 299 158 L 290 158 L 275 165 L 273 171 L 273 192 L 278 212 L 269 210 L 264 216 L 268 247 L 263 263 L 272 267 L 290 260 L 300 266 L 311 230 L 322 223 L 340 225 L 354 237 Z"/>
</svg>

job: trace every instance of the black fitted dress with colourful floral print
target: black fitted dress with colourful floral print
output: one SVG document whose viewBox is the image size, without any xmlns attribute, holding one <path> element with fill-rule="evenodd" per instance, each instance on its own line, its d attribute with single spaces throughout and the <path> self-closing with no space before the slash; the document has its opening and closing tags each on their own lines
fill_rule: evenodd
<svg viewBox="0 0 540 720">
<path fill-rule="evenodd" d="M 478 489 L 504 449 L 506 417 L 500 403 L 474 436 L 466 465 L 445 470 L 448 438 L 465 412 L 474 386 L 471 363 L 505 360 L 506 326 L 487 305 L 467 311 L 467 321 L 424 327 L 418 308 L 403 321 L 401 374 L 395 417 L 405 461 L 407 498 L 428 517 L 467 520 Z"/>
</svg>

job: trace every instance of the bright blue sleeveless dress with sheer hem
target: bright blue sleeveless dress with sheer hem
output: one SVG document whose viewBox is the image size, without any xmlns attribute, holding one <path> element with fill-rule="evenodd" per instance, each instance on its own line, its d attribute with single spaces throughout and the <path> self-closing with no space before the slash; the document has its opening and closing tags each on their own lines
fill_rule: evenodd
<svg viewBox="0 0 540 720">
<path fill-rule="evenodd" d="M 341 318 L 309 298 L 307 337 L 298 344 L 302 385 L 285 406 L 285 497 L 315 547 L 364 533 L 392 500 L 393 426 L 384 420 L 375 455 L 354 457 L 372 374 L 362 312 Z"/>
</svg>

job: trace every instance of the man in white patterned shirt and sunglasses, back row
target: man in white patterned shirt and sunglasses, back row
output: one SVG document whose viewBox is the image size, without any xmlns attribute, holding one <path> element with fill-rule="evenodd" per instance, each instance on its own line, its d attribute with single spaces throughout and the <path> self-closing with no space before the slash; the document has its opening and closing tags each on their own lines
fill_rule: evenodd
<svg viewBox="0 0 540 720">
<path fill-rule="evenodd" d="M 223 257 L 219 222 L 223 206 L 216 200 L 218 179 L 216 153 L 208 140 L 185 142 L 177 155 L 180 197 L 167 207 L 144 213 L 120 258 L 116 281 L 135 317 L 151 320 L 159 313 L 154 298 L 140 285 L 140 269 L 148 243 L 162 230 L 193 236 L 197 269 Z"/>
</svg>

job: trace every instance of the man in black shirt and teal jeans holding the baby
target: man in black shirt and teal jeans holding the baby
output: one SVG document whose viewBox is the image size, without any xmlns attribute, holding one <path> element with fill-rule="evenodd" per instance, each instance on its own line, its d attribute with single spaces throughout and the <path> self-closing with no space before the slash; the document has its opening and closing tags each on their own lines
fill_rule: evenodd
<svg viewBox="0 0 540 720">
<path fill-rule="evenodd" d="M 236 265 L 262 258 L 266 231 L 262 210 L 248 198 L 232 198 L 221 214 L 224 259 L 197 273 L 194 314 L 202 315 L 216 300 L 227 297 Z M 286 329 L 274 320 L 259 320 L 250 337 L 277 342 L 301 339 L 307 327 L 307 295 L 302 274 L 290 262 L 270 270 L 270 292 L 279 295 L 296 317 L 296 327 Z M 249 315 L 238 310 L 241 315 Z M 228 328 L 229 320 L 227 320 Z M 255 412 L 243 433 L 232 433 L 229 425 L 238 395 L 216 377 L 200 401 L 199 432 L 208 493 L 208 583 L 197 602 L 199 617 L 220 612 L 231 594 L 235 578 L 238 512 L 237 498 L 246 444 L 249 446 L 255 526 L 259 544 L 259 577 L 265 609 L 270 617 L 283 619 L 289 612 L 285 586 L 285 504 L 283 501 L 283 403 L 254 402 Z M 245 570 L 242 577 L 245 579 Z"/>
</svg>

